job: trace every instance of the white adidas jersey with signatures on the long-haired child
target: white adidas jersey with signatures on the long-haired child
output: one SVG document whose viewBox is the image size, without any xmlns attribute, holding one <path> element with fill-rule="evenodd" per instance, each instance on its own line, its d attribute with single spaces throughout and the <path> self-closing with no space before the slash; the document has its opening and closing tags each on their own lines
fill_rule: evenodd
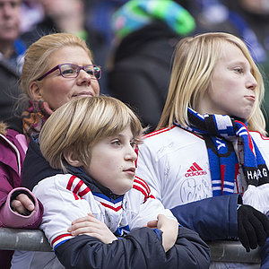
<svg viewBox="0 0 269 269">
<path fill-rule="evenodd" d="M 269 138 L 257 132 L 251 135 L 269 167 Z M 237 152 L 237 143 L 234 148 Z M 178 126 L 144 136 L 139 145 L 136 176 L 149 184 L 152 194 L 166 208 L 213 196 L 204 138 Z M 239 169 L 234 193 L 243 194 L 246 189 L 246 179 Z"/>
</svg>

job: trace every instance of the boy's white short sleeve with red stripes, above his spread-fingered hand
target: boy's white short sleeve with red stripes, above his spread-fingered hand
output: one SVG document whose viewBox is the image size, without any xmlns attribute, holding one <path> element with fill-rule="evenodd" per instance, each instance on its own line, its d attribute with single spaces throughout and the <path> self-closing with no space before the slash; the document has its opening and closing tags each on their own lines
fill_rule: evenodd
<svg viewBox="0 0 269 269">
<path fill-rule="evenodd" d="M 71 177 L 72 175 L 56 175 L 45 178 L 33 189 L 33 194 L 44 205 L 40 229 L 44 230 L 48 242 L 53 248 L 65 240 L 73 238 L 67 232 L 72 221 L 87 213 L 92 213 L 90 204 L 76 195 L 77 190 L 74 192 L 74 187 L 72 184 L 70 185 L 69 181 Z M 80 179 L 76 178 L 76 180 Z M 75 182 L 74 185 L 76 185 Z"/>
</svg>

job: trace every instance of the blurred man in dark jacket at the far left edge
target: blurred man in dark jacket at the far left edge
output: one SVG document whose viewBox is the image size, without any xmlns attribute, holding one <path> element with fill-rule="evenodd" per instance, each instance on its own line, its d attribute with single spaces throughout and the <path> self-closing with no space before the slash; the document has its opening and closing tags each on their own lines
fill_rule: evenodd
<svg viewBox="0 0 269 269">
<path fill-rule="evenodd" d="M 14 116 L 14 105 L 21 93 L 18 80 L 26 48 L 20 39 L 20 14 L 21 0 L 0 0 L 0 120 L 19 132 L 22 120 Z"/>
</svg>

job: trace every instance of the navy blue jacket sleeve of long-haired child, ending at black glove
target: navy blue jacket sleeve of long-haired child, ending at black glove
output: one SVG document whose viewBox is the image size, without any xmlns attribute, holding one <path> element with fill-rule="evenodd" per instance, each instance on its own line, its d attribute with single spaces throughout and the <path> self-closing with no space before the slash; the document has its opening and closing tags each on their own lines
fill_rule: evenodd
<svg viewBox="0 0 269 269">
<path fill-rule="evenodd" d="M 238 237 L 238 204 L 240 195 L 221 195 L 178 205 L 171 212 L 204 240 L 230 239 Z"/>
</svg>

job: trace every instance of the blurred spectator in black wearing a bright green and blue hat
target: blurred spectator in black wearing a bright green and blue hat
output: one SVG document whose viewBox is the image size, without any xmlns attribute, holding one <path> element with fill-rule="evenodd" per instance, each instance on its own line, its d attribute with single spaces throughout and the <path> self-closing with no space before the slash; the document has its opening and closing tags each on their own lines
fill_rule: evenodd
<svg viewBox="0 0 269 269">
<path fill-rule="evenodd" d="M 131 0 L 114 14 L 112 27 L 118 44 L 108 65 L 108 91 L 152 130 L 166 99 L 174 48 L 195 21 L 171 0 Z"/>
</svg>

